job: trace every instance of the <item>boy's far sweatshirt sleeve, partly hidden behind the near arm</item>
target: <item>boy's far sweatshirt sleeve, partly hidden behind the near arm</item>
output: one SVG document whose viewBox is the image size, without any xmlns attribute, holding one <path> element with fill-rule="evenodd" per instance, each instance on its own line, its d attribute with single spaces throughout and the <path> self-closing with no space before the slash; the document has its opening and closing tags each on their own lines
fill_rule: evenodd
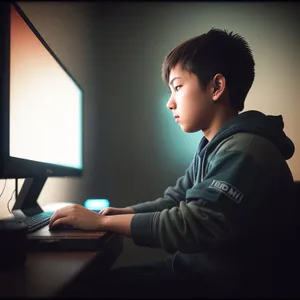
<svg viewBox="0 0 300 300">
<path fill-rule="evenodd" d="M 171 209 L 172 207 L 178 207 L 181 201 L 185 201 L 186 191 L 193 186 L 193 170 L 195 164 L 195 156 L 187 168 L 185 175 L 180 177 L 175 186 L 168 187 L 165 190 L 164 196 L 154 201 L 148 201 L 129 206 L 135 213 L 150 213 L 161 212 L 164 209 Z"/>
</svg>

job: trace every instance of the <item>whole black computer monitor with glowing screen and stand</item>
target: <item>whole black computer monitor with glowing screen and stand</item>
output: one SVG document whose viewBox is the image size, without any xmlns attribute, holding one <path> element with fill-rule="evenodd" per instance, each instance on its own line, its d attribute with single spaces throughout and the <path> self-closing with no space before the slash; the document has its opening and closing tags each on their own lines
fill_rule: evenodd
<svg viewBox="0 0 300 300">
<path fill-rule="evenodd" d="M 0 178 L 25 178 L 13 211 L 35 214 L 48 177 L 82 175 L 83 90 L 12 2 L 0 4 L 0 76 Z"/>
</svg>

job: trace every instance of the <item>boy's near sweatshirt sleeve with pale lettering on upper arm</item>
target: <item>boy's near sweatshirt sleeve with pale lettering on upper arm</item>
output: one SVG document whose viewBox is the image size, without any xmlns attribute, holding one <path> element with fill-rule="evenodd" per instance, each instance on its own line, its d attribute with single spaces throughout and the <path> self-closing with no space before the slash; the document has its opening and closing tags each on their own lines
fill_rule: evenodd
<svg viewBox="0 0 300 300">
<path fill-rule="evenodd" d="M 255 222 L 258 191 L 263 197 L 259 185 L 265 179 L 252 156 L 239 151 L 218 154 L 204 180 L 187 190 L 186 201 L 133 217 L 133 241 L 171 253 L 195 253 L 219 245 L 249 226 L 249 220 Z"/>
</svg>

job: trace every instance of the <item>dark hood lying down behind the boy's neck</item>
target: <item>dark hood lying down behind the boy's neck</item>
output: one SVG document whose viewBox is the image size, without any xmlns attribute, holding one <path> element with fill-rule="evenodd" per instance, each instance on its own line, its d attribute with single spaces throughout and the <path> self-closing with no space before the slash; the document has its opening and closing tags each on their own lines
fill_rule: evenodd
<svg viewBox="0 0 300 300">
<path fill-rule="evenodd" d="M 260 135 L 270 140 L 282 156 L 290 159 L 295 151 L 293 142 L 283 131 L 284 123 L 281 115 L 267 116 L 258 111 L 247 111 L 228 121 L 209 143 L 209 148 L 219 144 L 221 140 L 239 132 Z"/>
</svg>

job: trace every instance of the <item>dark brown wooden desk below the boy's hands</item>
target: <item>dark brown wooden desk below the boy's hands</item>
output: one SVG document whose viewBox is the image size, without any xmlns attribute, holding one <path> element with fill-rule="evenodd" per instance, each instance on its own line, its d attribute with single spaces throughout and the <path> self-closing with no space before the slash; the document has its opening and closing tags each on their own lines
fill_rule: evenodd
<svg viewBox="0 0 300 300">
<path fill-rule="evenodd" d="M 0 271 L 0 297 L 64 295 L 75 280 L 108 271 L 122 252 L 122 241 L 112 234 L 100 251 L 29 252 L 22 268 Z"/>
</svg>

